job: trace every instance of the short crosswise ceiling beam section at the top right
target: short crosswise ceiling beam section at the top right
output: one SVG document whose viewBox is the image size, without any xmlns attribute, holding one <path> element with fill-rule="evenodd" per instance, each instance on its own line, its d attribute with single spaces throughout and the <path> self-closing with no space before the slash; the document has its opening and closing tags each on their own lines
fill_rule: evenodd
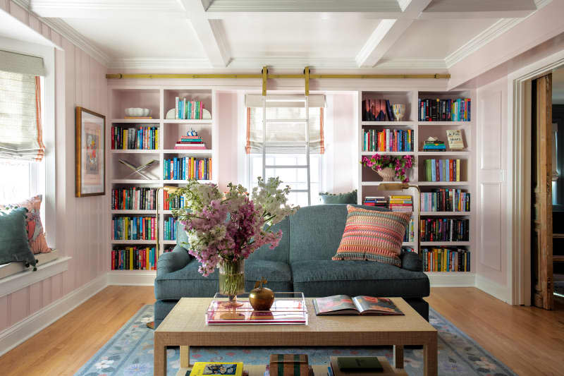
<svg viewBox="0 0 564 376">
<path fill-rule="evenodd" d="M 420 18 L 522 18 L 536 10 L 534 0 L 435 0 Z"/>
</svg>

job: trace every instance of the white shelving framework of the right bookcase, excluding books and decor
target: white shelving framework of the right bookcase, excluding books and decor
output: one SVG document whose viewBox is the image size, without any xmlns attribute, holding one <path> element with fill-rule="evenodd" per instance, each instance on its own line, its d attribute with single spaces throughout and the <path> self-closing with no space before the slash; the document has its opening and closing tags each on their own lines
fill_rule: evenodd
<svg viewBox="0 0 564 376">
<path fill-rule="evenodd" d="M 414 216 L 417 216 L 417 211 L 419 210 L 420 198 L 417 197 L 417 191 L 414 189 L 403 190 L 401 193 L 398 191 L 386 192 L 379 189 L 381 183 L 380 177 L 375 171 L 370 170 L 367 167 L 362 166 L 358 163 L 360 159 L 364 156 L 371 156 L 373 154 L 381 155 L 411 155 L 415 160 L 415 166 L 410 170 L 408 177 L 410 178 L 409 184 L 412 186 L 418 186 L 422 193 L 429 193 L 435 188 L 458 188 L 464 192 L 474 195 L 474 181 L 476 181 L 476 173 L 474 169 L 474 150 L 475 150 L 475 119 L 477 119 L 477 113 L 474 111 L 472 114 L 472 121 L 412 121 L 411 119 L 417 119 L 419 107 L 419 98 L 440 98 L 440 99 L 455 99 L 460 97 L 467 97 L 476 103 L 476 93 L 473 89 L 468 90 L 457 90 L 456 92 L 447 92 L 444 90 L 418 90 L 417 88 L 410 89 L 399 89 L 399 90 L 385 90 L 380 91 L 378 89 L 362 89 L 359 92 L 358 97 L 358 125 L 357 125 L 357 171 L 358 171 L 358 202 L 362 204 L 362 200 L 366 196 L 389 196 L 389 195 L 412 195 L 413 196 L 413 211 Z M 364 99 L 388 99 L 391 104 L 405 104 L 405 121 L 362 121 L 362 101 Z M 474 107 L 475 109 L 476 107 Z M 412 129 L 412 141 L 413 148 L 412 152 L 369 152 L 363 151 L 362 145 L 362 131 L 367 129 Z M 423 144 L 424 140 L 427 140 L 430 136 L 437 137 L 439 140 L 448 142 L 446 137 L 446 130 L 448 129 L 460 129 L 462 130 L 462 137 L 465 140 L 466 148 L 464 150 L 446 150 L 444 152 L 429 150 L 424 151 Z M 427 159 L 461 159 L 462 166 L 460 169 L 460 178 L 463 181 L 424 181 L 425 169 L 424 161 Z M 399 183 L 399 181 L 395 181 Z M 474 249 L 474 239 L 472 234 L 474 233 L 475 226 L 475 207 L 474 200 L 471 200 L 471 207 L 469 212 L 421 212 L 421 217 L 425 218 L 460 218 L 469 219 L 470 222 L 470 241 L 441 241 L 441 242 L 422 242 L 420 243 L 419 249 L 417 249 L 417 242 L 403 243 L 403 246 L 410 246 L 414 248 L 417 252 L 420 251 L 421 247 L 464 247 L 470 250 L 471 265 L 470 270 L 475 270 L 477 256 L 473 253 Z M 419 223 L 415 223 L 415 234 L 419 235 Z M 427 272 L 432 286 L 474 286 L 474 274 L 472 272 Z"/>
</svg>

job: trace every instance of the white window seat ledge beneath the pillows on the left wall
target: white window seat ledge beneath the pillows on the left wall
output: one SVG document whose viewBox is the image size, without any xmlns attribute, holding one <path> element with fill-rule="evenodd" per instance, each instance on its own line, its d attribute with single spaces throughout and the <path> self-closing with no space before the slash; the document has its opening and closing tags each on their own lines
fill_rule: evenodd
<svg viewBox="0 0 564 376">
<path fill-rule="evenodd" d="M 21 262 L 10 262 L 0 265 L 0 297 L 35 284 L 68 269 L 68 260 L 71 257 L 60 257 L 59 251 L 34 255 L 37 262 L 37 271 L 32 267 L 25 267 Z"/>
</svg>

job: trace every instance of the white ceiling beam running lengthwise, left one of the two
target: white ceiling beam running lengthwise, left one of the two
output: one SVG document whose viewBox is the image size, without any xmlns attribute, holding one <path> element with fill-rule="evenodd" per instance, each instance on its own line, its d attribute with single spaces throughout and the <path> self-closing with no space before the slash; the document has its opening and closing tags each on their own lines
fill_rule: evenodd
<svg viewBox="0 0 564 376">
<path fill-rule="evenodd" d="M 225 68 L 231 61 L 221 20 L 208 20 L 202 0 L 178 0 L 213 68 Z"/>
</svg>

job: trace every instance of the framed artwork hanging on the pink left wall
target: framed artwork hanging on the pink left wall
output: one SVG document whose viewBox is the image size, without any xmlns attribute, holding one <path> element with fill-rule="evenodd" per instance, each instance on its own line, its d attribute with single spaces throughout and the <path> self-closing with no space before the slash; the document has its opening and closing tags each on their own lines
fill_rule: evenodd
<svg viewBox="0 0 564 376">
<path fill-rule="evenodd" d="M 75 196 L 106 194 L 106 116 L 76 107 Z"/>
</svg>

